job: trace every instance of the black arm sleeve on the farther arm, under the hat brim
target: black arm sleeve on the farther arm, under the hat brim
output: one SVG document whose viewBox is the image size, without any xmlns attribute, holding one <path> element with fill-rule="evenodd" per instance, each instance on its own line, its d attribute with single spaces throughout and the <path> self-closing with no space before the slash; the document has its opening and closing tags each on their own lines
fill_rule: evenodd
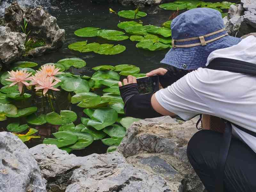
<svg viewBox="0 0 256 192">
<path fill-rule="evenodd" d="M 170 67 L 167 69 L 167 72 L 164 75 L 159 75 L 159 82 L 163 88 L 168 87 L 169 85 L 178 81 L 181 77 L 188 74 L 188 70 L 179 69 L 176 67 Z"/>
</svg>

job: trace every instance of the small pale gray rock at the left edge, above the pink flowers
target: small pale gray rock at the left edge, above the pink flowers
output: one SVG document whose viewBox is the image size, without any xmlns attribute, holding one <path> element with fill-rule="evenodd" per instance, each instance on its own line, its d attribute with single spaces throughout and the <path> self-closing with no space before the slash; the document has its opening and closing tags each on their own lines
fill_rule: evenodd
<svg viewBox="0 0 256 192">
<path fill-rule="evenodd" d="M 9 65 L 21 57 L 25 52 L 25 40 L 24 33 L 11 32 L 9 27 L 0 26 L 0 60 Z"/>
</svg>

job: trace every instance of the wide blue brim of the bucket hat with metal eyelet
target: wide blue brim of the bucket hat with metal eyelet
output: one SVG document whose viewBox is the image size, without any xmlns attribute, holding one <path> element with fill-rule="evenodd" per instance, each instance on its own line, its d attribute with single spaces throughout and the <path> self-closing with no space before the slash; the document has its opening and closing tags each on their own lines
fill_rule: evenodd
<svg viewBox="0 0 256 192">
<path fill-rule="evenodd" d="M 176 68 L 192 70 L 205 67 L 207 58 L 211 52 L 238 44 L 241 38 L 225 36 L 205 46 L 188 48 L 177 47 L 166 53 L 161 63 L 172 65 Z"/>
</svg>

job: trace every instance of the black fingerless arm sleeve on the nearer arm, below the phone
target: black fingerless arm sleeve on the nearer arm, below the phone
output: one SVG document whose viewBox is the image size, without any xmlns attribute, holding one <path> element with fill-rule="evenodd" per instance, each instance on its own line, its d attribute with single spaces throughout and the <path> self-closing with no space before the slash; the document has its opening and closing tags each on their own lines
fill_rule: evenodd
<svg viewBox="0 0 256 192">
<path fill-rule="evenodd" d="M 127 84 L 119 88 L 124 100 L 124 113 L 135 118 L 154 118 L 163 116 L 157 113 L 151 105 L 151 97 L 155 92 L 139 94 L 138 84 Z"/>
</svg>

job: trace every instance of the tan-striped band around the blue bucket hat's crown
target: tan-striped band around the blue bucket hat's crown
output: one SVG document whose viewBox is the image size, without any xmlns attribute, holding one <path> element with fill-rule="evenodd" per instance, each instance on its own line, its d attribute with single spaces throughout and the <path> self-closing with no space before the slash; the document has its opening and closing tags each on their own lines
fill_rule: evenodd
<svg viewBox="0 0 256 192">
<path fill-rule="evenodd" d="M 228 33 L 225 33 L 224 35 L 221 35 L 221 36 L 218 36 L 214 39 L 211 39 L 211 40 L 208 40 L 208 41 L 205 41 L 204 40 L 204 37 L 208 37 L 208 36 L 212 36 L 212 35 L 216 35 L 218 33 L 221 33 L 223 31 L 225 31 L 226 28 L 223 28 L 223 29 L 220 29 L 218 31 L 214 31 L 212 33 L 209 33 L 209 34 L 206 34 L 204 36 L 199 36 L 199 37 L 192 37 L 192 38 L 188 38 L 188 39 L 172 39 L 172 48 L 175 48 L 175 47 L 183 47 L 183 48 L 186 48 L 186 47 L 195 47 L 195 46 L 199 46 L 199 45 L 202 45 L 202 46 L 205 46 L 207 43 L 211 43 L 213 41 L 216 41 L 217 39 L 220 39 L 224 36 L 227 36 Z M 200 43 L 195 43 L 195 44 L 188 44 L 188 45 L 175 45 L 175 41 L 176 42 L 186 42 L 186 41 L 193 41 L 193 40 L 200 40 Z"/>
</svg>

